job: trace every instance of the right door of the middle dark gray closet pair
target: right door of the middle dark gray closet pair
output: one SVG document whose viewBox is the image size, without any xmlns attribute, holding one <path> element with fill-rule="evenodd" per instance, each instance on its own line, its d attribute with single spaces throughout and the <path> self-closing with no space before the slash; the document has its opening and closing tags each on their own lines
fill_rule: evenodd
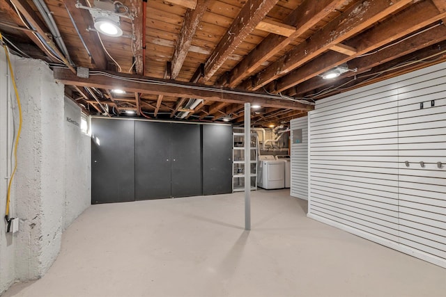
<svg viewBox="0 0 446 297">
<path fill-rule="evenodd" d="M 171 195 L 202 195 L 200 125 L 171 124 Z"/>
</svg>

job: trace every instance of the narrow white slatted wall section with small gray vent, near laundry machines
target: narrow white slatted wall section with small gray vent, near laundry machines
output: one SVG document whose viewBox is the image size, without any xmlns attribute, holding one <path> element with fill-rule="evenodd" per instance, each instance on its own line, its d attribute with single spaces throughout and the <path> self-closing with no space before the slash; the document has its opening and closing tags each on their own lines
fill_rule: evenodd
<svg viewBox="0 0 446 297">
<path fill-rule="evenodd" d="M 291 126 L 291 188 L 290 195 L 308 200 L 308 118 L 296 118 Z M 302 129 L 302 141 L 295 143 L 293 130 Z"/>
</svg>

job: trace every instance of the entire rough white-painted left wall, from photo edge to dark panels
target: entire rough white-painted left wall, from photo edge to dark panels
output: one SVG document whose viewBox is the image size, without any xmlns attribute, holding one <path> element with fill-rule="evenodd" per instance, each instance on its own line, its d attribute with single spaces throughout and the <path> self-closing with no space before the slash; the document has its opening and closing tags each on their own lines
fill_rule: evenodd
<svg viewBox="0 0 446 297">
<path fill-rule="evenodd" d="M 61 234 L 91 201 L 90 139 L 66 117 L 79 119 L 80 109 L 64 102 L 63 85 L 41 61 L 11 56 L 22 101 L 23 126 L 11 216 L 20 231 L 6 234 L 0 220 L 0 294 L 18 280 L 40 278 L 59 254 Z M 6 57 L 0 55 L 0 209 L 5 214 L 11 146 L 18 129 L 17 105 L 8 81 Z M 8 103 L 9 102 L 9 103 Z M 68 105 L 70 104 L 70 105 Z M 13 106 L 13 111 L 11 111 Z M 15 114 L 15 127 L 12 113 Z M 68 182 L 69 181 L 69 182 Z"/>
</svg>

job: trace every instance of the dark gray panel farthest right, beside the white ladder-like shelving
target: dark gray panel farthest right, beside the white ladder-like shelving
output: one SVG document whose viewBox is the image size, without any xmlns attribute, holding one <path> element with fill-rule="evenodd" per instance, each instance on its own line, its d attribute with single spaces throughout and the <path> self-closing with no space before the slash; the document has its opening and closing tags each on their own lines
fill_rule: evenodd
<svg viewBox="0 0 446 297">
<path fill-rule="evenodd" d="M 232 127 L 203 125 L 203 195 L 232 192 Z"/>
</svg>

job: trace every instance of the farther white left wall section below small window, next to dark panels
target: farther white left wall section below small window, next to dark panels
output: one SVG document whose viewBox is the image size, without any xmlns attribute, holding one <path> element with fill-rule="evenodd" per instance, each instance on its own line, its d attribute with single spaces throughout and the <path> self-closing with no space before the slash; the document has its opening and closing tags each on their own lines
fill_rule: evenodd
<svg viewBox="0 0 446 297">
<path fill-rule="evenodd" d="M 91 138 L 80 130 L 81 110 L 65 99 L 65 205 L 63 227 L 91 205 Z M 69 160 L 75 160 L 69 162 Z"/>
</svg>

